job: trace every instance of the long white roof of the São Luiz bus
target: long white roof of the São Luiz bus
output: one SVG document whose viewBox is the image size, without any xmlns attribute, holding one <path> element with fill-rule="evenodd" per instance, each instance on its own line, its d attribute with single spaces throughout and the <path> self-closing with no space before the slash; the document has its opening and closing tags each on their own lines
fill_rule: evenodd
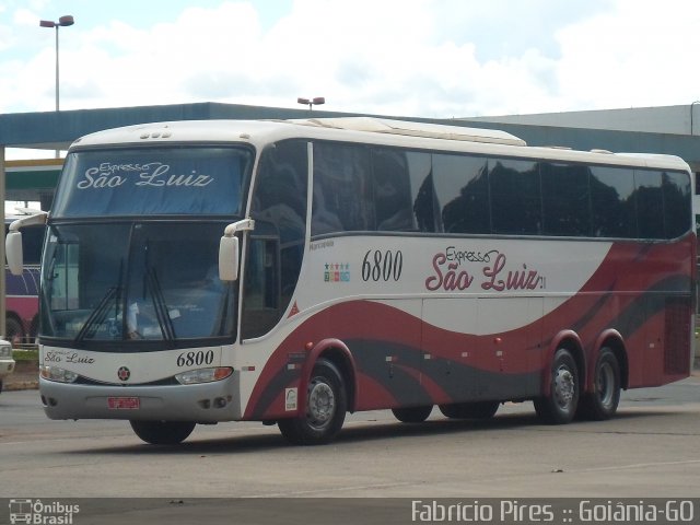
<svg viewBox="0 0 700 525">
<path fill-rule="evenodd" d="M 689 171 L 682 159 L 652 153 L 578 151 L 560 147 L 528 147 L 511 133 L 493 129 L 447 126 L 374 117 L 293 120 L 176 120 L 113 128 L 75 140 L 70 151 L 105 145 L 167 143 L 249 143 L 262 148 L 283 139 L 302 138 L 364 142 L 423 150 L 498 154 L 560 162 L 586 162 Z"/>
</svg>

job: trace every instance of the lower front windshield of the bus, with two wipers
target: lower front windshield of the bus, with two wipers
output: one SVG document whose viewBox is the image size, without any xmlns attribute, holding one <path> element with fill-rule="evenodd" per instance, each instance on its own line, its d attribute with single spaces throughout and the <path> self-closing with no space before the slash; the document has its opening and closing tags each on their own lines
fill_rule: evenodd
<svg viewBox="0 0 700 525">
<path fill-rule="evenodd" d="M 43 337 L 84 341 L 233 336 L 233 283 L 219 280 L 225 223 L 52 225 Z M 206 343 L 206 342 L 202 342 Z"/>
</svg>

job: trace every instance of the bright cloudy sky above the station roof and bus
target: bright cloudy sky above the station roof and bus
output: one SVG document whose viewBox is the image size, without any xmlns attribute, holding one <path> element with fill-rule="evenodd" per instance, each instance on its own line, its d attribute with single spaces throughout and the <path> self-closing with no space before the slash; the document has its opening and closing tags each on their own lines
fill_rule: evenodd
<svg viewBox="0 0 700 525">
<path fill-rule="evenodd" d="M 691 104 L 698 0 L 0 0 L 0 114 L 220 102 L 452 118 Z"/>
</svg>

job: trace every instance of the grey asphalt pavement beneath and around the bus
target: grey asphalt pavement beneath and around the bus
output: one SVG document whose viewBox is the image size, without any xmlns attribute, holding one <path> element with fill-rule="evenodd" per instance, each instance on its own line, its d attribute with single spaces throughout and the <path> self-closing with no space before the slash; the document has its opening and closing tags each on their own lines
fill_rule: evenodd
<svg viewBox="0 0 700 525">
<path fill-rule="evenodd" d="M 699 451 L 698 376 L 623 393 L 610 421 L 544 425 L 529 402 L 486 422 L 435 409 L 405 424 L 373 411 L 349 416 L 337 441 L 316 447 L 249 422 L 198 427 L 183 445 L 152 446 L 127 422 L 50 421 L 36 390 L 0 395 L 8 499 L 700 498 Z"/>
</svg>

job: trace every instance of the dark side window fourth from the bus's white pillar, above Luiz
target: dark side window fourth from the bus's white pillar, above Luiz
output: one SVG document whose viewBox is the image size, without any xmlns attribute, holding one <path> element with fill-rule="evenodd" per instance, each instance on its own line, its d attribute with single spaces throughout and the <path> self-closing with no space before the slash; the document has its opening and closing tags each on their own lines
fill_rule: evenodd
<svg viewBox="0 0 700 525">
<path fill-rule="evenodd" d="M 495 161 L 489 172 L 489 188 L 494 233 L 541 234 L 541 192 L 535 162 Z"/>
</svg>

